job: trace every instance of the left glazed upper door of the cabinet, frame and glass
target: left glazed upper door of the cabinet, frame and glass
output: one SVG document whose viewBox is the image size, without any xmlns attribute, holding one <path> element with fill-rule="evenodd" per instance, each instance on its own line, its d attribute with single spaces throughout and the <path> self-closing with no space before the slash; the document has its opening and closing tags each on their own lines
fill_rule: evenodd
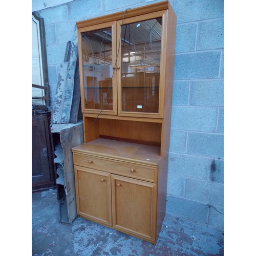
<svg viewBox="0 0 256 256">
<path fill-rule="evenodd" d="M 115 23 L 84 28 L 80 33 L 81 104 L 85 113 L 116 114 Z"/>
</svg>

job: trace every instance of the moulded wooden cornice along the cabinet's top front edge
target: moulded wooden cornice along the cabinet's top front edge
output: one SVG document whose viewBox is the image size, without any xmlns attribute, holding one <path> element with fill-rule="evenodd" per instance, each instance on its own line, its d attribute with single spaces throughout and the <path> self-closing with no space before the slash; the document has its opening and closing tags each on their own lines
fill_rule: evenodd
<svg viewBox="0 0 256 256">
<path fill-rule="evenodd" d="M 169 8 L 170 8 L 170 4 L 169 4 L 168 0 L 166 0 L 166 1 L 155 3 L 152 5 L 146 5 L 146 6 L 141 6 L 141 7 L 134 8 L 134 9 L 129 9 L 125 13 L 125 18 L 131 18 L 131 17 L 135 17 L 138 15 L 142 15 L 142 14 L 167 10 Z M 98 25 L 101 23 L 111 22 L 113 20 L 120 20 L 123 18 L 123 14 L 124 14 L 124 11 L 121 11 L 121 12 L 116 12 L 113 14 L 99 16 L 96 18 L 82 20 L 81 22 L 77 22 L 76 26 L 79 29 L 79 28 L 89 27 L 89 26 L 93 26 L 93 25 Z"/>
</svg>

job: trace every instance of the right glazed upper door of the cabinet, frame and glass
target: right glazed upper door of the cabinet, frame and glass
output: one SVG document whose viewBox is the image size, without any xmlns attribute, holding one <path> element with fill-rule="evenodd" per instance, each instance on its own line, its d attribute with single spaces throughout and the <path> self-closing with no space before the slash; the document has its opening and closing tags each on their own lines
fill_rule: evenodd
<svg viewBox="0 0 256 256">
<path fill-rule="evenodd" d="M 164 12 L 118 20 L 118 115 L 161 117 Z M 123 24 L 123 26 L 122 26 Z M 162 77 L 162 78 L 161 78 Z"/>
</svg>

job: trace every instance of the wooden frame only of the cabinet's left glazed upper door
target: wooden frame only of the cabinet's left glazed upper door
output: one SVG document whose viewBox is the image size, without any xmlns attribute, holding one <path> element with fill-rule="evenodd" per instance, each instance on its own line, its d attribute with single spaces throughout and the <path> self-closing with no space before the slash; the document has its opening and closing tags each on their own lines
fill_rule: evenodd
<svg viewBox="0 0 256 256">
<path fill-rule="evenodd" d="M 114 67 L 116 64 L 116 51 L 113 51 L 113 49 L 116 49 L 116 21 L 113 20 L 111 22 L 105 23 L 105 24 L 97 24 L 92 25 L 90 27 L 82 27 L 77 29 L 77 37 L 78 37 L 78 46 L 82 45 L 82 33 L 98 30 L 98 29 L 104 29 L 104 28 L 111 28 L 112 29 L 112 66 Z M 106 115 L 117 115 L 117 74 L 115 72 L 116 69 L 113 69 L 112 74 L 112 90 L 113 90 L 113 111 L 109 110 L 94 110 L 94 109 L 86 109 L 84 108 L 84 79 L 83 79 L 83 60 L 82 60 L 82 49 L 81 47 L 78 47 L 78 58 L 79 58 L 79 67 L 80 67 L 80 91 L 81 91 L 81 109 L 82 113 L 91 113 L 91 114 L 99 114 L 104 113 Z"/>
</svg>

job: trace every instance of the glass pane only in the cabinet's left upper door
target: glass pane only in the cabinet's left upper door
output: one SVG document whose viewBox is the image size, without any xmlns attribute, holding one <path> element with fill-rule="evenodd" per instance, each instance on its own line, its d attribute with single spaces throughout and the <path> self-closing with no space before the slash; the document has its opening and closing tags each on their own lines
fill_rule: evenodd
<svg viewBox="0 0 256 256">
<path fill-rule="evenodd" d="M 81 33 L 84 106 L 113 111 L 112 28 Z"/>
</svg>

